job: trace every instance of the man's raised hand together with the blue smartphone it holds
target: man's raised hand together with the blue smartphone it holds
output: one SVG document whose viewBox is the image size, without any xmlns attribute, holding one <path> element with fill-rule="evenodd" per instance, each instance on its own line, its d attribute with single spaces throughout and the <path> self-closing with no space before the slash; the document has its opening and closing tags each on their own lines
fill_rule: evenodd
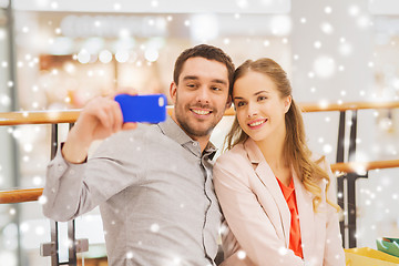
<svg viewBox="0 0 399 266">
<path fill-rule="evenodd" d="M 164 94 L 136 95 L 135 91 L 91 100 L 83 109 L 62 149 L 64 157 L 83 162 L 91 143 L 121 130 L 132 130 L 137 122 L 160 123 L 166 120 Z"/>
</svg>

